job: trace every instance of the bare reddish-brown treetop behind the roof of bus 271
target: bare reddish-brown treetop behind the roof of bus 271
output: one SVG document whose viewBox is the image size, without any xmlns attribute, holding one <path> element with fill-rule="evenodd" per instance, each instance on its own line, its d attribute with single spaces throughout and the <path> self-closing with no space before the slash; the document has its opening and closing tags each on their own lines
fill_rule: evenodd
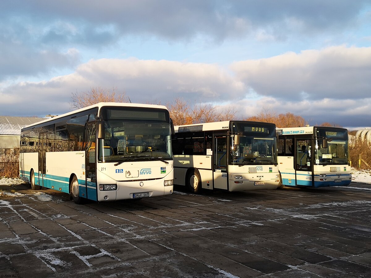
<svg viewBox="0 0 371 278">
<path fill-rule="evenodd" d="M 105 89 L 101 87 L 92 87 L 88 92 L 77 91 L 72 93 L 71 108 L 79 109 L 98 102 L 128 102 L 125 92 L 117 93 L 117 88 Z"/>
</svg>

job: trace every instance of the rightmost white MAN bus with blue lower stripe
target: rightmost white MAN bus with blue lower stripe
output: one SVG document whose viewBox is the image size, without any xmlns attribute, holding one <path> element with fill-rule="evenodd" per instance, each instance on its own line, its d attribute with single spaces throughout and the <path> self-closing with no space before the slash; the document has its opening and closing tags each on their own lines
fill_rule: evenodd
<svg viewBox="0 0 371 278">
<path fill-rule="evenodd" d="M 352 181 L 347 129 L 281 128 L 277 135 L 281 188 L 340 186 Z"/>
</svg>

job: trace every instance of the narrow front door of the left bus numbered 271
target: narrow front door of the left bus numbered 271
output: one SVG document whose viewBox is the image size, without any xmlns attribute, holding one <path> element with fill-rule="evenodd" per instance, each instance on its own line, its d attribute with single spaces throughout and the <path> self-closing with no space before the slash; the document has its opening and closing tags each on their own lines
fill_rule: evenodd
<svg viewBox="0 0 371 278">
<path fill-rule="evenodd" d="M 85 126 L 85 184 L 86 191 L 84 198 L 97 201 L 96 184 L 96 123 L 87 123 Z"/>
</svg>

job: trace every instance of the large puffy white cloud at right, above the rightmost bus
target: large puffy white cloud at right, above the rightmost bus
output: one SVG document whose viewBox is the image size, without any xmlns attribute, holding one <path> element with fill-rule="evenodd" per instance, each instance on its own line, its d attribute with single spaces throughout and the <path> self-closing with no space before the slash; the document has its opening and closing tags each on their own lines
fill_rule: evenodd
<svg viewBox="0 0 371 278">
<path fill-rule="evenodd" d="M 284 100 L 347 99 L 368 96 L 371 47 L 333 46 L 235 62 L 237 78 L 259 95 Z"/>
</svg>

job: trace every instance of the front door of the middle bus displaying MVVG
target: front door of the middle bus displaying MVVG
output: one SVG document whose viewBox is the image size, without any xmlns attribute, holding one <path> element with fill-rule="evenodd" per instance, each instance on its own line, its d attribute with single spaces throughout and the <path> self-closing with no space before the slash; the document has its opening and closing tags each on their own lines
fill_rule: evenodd
<svg viewBox="0 0 371 278">
<path fill-rule="evenodd" d="M 214 135 L 214 188 L 228 189 L 227 136 Z"/>
</svg>

